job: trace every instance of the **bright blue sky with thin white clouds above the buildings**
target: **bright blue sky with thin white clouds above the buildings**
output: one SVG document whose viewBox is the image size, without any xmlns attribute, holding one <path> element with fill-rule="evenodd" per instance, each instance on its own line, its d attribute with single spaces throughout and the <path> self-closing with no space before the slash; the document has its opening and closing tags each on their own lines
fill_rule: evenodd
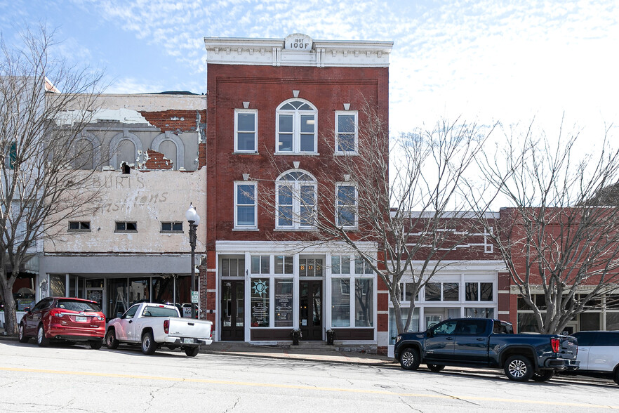
<svg viewBox="0 0 619 413">
<path fill-rule="evenodd" d="M 25 22 L 56 27 L 58 53 L 104 67 L 109 93 L 204 93 L 205 36 L 299 32 L 394 41 L 392 131 L 458 116 L 619 124 L 616 0 L 0 0 L 7 43 Z"/>
</svg>

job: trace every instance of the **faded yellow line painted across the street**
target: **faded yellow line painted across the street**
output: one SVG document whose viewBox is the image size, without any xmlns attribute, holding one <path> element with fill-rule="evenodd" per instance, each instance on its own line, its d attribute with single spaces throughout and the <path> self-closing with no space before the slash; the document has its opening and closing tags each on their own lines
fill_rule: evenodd
<svg viewBox="0 0 619 413">
<path fill-rule="evenodd" d="M 527 405 L 551 405 L 551 406 L 566 406 L 566 407 L 588 407 L 598 409 L 619 409 L 619 406 L 611 405 L 590 405 L 587 403 L 571 403 L 571 402 L 550 402 L 544 400 L 519 400 L 507 398 L 485 398 L 478 396 L 458 396 L 458 395 L 437 395 L 427 393 L 396 393 L 394 391 L 385 390 L 363 390 L 359 388 L 334 388 L 334 387 L 312 387 L 298 386 L 291 384 L 269 384 L 269 383 L 251 383 L 246 381 L 226 381 L 226 380 L 209 380 L 209 379 L 191 379 L 185 377 L 161 377 L 161 376 L 141 376 L 137 374 L 114 374 L 114 373 L 96 373 L 96 372 L 69 372 L 64 370 L 46 370 L 46 369 L 22 369 L 13 367 L 0 367 L 0 371 L 4 372 L 27 372 L 27 373 L 45 373 L 45 374 L 70 374 L 73 376 L 97 376 L 97 377 L 117 377 L 120 379 L 146 379 L 146 380 L 161 380 L 161 381 L 187 381 L 188 383 L 208 383 L 208 384 L 225 384 L 234 386 L 249 386 L 249 387 L 268 387 L 268 388 L 293 388 L 296 390 L 311 390 L 311 391 L 333 391 L 342 393 L 364 393 L 378 395 L 394 395 L 398 397 L 411 398 L 434 398 L 434 399 L 451 399 L 451 400 L 477 400 L 486 402 L 511 402 L 523 403 Z"/>
</svg>

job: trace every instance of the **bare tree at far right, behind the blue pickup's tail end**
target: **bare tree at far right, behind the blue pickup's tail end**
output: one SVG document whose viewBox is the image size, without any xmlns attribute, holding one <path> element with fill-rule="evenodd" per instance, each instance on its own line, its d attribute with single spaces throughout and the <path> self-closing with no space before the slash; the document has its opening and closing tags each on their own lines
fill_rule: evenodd
<svg viewBox="0 0 619 413">
<path fill-rule="evenodd" d="M 539 331 L 561 332 L 619 281 L 619 208 L 602 206 L 619 178 L 619 152 L 606 132 L 597 155 L 581 155 L 578 131 L 563 125 L 554 145 L 532 125 L 506 136 L 500 153 L 479 157 L 486 182 L 510 203 L 498 228 L 486 228 Z"/>
</svg>

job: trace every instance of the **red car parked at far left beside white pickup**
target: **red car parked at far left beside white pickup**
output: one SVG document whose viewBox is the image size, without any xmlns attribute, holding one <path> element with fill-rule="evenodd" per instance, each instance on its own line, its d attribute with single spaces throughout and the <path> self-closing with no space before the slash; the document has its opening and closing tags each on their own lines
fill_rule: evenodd
<svg viewBox="0 0 619 413">
<path fill-rule="evenodd" d="M 42 299 L 22 317 L 20 343 L 36 337 L 39 346 L 50 340 L 81 341 L 98 350 L 105 336 L 105 316 L 98 303 L 68 297 Z"/>
</svg>

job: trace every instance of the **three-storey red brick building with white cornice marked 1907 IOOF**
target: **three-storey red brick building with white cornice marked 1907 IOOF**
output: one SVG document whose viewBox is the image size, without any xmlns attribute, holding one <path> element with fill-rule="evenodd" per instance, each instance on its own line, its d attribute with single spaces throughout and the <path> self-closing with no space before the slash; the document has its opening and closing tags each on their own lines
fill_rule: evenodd
<svg viewBox="0 0 619 413">
<path fill-rule="evenodd" d="M 387 119 L 392 42 L 319 41 L 292 34 L 286 39 L 206 38 L 205 44 L 207 263 L 202 287 L 216 339 L 291 341 L 292 330 L 300 329 L 303 340 L 322 341 L 334 329 L 342 344 L 375 348 L 375 274 L 350 250 L 313 242 L 311 211 L 293 195 L 312 204 L 335 202 L 342 191 L 354 193 L 354 183 L 344 176 L 328 190 L 317 176 L 338 153 L 354 153 L 366 100 Z M 259 205 L 269 191 L 277 201 L 271 211 Z M 375 254 L 375 245 L 367 248 Z"/>
</svg>

